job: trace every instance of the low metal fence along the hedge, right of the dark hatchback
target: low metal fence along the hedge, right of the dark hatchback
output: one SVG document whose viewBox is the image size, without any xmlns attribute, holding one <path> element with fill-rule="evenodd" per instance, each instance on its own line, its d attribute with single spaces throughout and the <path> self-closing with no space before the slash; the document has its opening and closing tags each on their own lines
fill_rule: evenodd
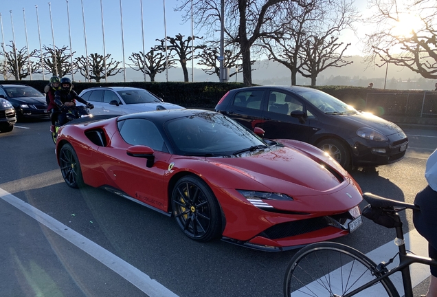
<svg viewBox="0 0 437 297">
<path fill-rule="evenodd" d="M 365 110 L 377 115 L 437 118 L 437 92 L 368 93 Z"/>
</svg>

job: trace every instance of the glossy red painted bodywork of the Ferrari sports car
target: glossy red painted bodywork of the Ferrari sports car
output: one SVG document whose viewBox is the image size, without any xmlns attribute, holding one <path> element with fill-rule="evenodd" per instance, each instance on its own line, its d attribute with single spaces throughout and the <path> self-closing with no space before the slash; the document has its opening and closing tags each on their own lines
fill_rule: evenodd
<svg viewBox="0 0 437 297">
<path fill-rule="evenodd" d="M 106 146 L 93 144 L 85 131 L 104 131 Z M 223 238 L 253 245 L 289 248 L 348 234 L 327 226 L 280 239 L 262 232 L 272 226 L 348 212 L 361 201 L 361 189 L 337 162 L 318 148 L 295 140 L 278 140 L 284 147 L 238 157 L 192 157 L 155 151 L 155 162 L 126 154 L 130 147 L 117 130 L 117 119 L 63 126 L 57 154 L 69 142 L 76 151 L 85 184 L 111 187 L 148 206 L 170 214 L 171 185 L 181 175 L 197 175 L 219 201 L 225 224 Z M 59 161 L 58 161 L 59 162 Z M 171 165 L 170 165 L 171 164 Z M 281 192 L 293 201 L 269 200 L 277 211 L 260 209 L 238 190 Z"/>
</svg>

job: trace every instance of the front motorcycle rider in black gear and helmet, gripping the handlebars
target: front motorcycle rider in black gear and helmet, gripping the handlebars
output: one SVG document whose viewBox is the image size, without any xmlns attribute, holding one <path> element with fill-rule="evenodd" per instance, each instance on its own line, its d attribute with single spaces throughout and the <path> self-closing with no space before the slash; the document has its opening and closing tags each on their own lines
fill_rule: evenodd
<svg viewBox="0 0 437 297">
<path fill-rule="evenodd" d="M 55 91 L 54 102 L 60 109 L 61 113 L 58 115 L 58 122 L 62 126 L 68 122 L 67 112 L 69 107 L 76 105 L 76 100 L 80 103 L 86 104 L 89 109 L 93 109 L 94 105 L 79 97 L 76 91 L 73 90 L 71 80 L 67 77 L 60 79 L 60 89 Z"/>
</svg>

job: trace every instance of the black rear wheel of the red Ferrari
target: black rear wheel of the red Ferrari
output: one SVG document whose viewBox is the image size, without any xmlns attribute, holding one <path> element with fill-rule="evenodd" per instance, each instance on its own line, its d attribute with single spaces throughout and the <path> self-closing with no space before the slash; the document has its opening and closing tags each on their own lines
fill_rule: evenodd
<svg viewBox="0 0 437 297">
<path fill-rule="evenodd" d="M 80 170 L 78 155 L 76 155 L 76 151 L 74 151 L 71 144 L 65 144 L 60 148 L 59 166 L 60 172 L 63 174 L 67 185 L 71 186 L 71 188 L 85 186 L 82 177 L 82 170 Z"/>
</svg>

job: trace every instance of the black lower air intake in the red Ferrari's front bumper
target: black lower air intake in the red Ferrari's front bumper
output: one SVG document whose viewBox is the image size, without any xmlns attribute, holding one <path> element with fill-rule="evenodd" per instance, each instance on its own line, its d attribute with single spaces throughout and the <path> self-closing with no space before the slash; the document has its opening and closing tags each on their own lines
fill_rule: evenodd
<svg viewBox="0 0 437 297">
<path fill-rule="evenodd" d="M 273 225 L 269 229 L 260 233 L 260 236 L 268 239 L 282 239 L 289 236 L 317 231 L 326 227 L 328 227 L 328 221 L 324 217 L 317 217 Z"/>
</svg>

